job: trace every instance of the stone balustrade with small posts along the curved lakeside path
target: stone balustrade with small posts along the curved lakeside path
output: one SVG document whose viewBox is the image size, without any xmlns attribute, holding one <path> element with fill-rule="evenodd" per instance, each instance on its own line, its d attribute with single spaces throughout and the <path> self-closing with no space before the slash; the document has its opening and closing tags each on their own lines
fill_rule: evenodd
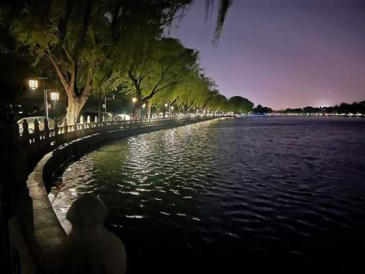
<svg viewBox="0 0 365 274">
<path fill-rule="evenodd" d="M 55 147 L 55 145 L 62 145 L 65 142 L 70 142 L 77 138 L 84 136 L 99 134 L 101 132 L 108 132 L 111 130 L 131 129 L 136 127 L 144 127 L 149 125 L 155 125 L 158 123 L 170 123 L 174 121 L 184 121 L 188 119 L 205 119 L 208 117 L 219 118 L 225 116 L 223 114 L 180 114 L 173 117 L 157 118 L 157 119 L 139 119 L 139 120 L 116 120 L 116 121 L 97 121 L 95 117 L 94 122 L 90 122 L 88 116 L 86 123 L 82 123 L 84 119 L 80 119 L 81 123 L 75 125 L 67 125 L 64 121 L 62 126 L 58 125 L 58 121 L 55 121 L 55 126 L 49 128 L 47 119 L 42 125 L 44 129 L 40 130 L 40 124 L 37 119 L 34 120 L 34 129 L 32 133 L 29 132 L 29 124 L 26 120 L 23 121 L 21 127 L 23 130 L 16 138 L 19 138 L 23 153 L 26 158 L 37 158 L 47 153 Z"/>
</svg>

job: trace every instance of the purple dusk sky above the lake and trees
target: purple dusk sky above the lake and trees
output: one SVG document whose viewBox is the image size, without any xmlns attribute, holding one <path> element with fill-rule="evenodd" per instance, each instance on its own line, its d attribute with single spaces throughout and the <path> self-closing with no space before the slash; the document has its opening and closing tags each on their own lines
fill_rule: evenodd
<svg viewBox="0 0 365 274">
<path fill-rule="evenodd" d="M 364 0 L 236 0 L 218 47 L 215 22 L 197 0 L 170 36 L 201 51 L 227 97 L 274 109 L 365 100 Z"/>
</svg>

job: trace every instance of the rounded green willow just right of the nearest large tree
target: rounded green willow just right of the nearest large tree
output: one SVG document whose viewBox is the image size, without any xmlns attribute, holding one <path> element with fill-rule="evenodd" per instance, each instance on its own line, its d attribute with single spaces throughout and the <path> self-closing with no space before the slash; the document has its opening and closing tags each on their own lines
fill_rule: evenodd
<svg viewBox="0 0 365 274">
<path fill-rule="evenodd" d="M 135 116 L 155 95 L 182 84 L 197 66 L 198 53 L 173 38 L 147 40 L 136 47 L 123 84 L 136 96 Z"/>
</svg>

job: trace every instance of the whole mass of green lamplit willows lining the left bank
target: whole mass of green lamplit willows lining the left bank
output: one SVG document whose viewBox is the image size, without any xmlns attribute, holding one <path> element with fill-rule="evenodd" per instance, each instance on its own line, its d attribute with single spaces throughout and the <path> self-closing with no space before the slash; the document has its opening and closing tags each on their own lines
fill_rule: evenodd
<svg viewBox="0 0 365 274">
<path fill-rule="evenodd" d="M 1 6 L 0 23 L 18 50 L 27 51 L 34 66 L 42 68 L 40 76 L 56 75 L 49 79 L 58 79 L 52 86 L 66 93 L 71 121 L 92 92 L 100 97 L 122 90 L 138 97 L 138 106 L 149 101 L 158 108 L 168 102 L 185 111 L 229 109 L 214 81 L 201 73 L 199 53 L 179 40 L 162 38 L 164 26 L 190 3 L 20 0 Z M 219 3 L 215 40 L 231 1 Z"/>
</svg>

